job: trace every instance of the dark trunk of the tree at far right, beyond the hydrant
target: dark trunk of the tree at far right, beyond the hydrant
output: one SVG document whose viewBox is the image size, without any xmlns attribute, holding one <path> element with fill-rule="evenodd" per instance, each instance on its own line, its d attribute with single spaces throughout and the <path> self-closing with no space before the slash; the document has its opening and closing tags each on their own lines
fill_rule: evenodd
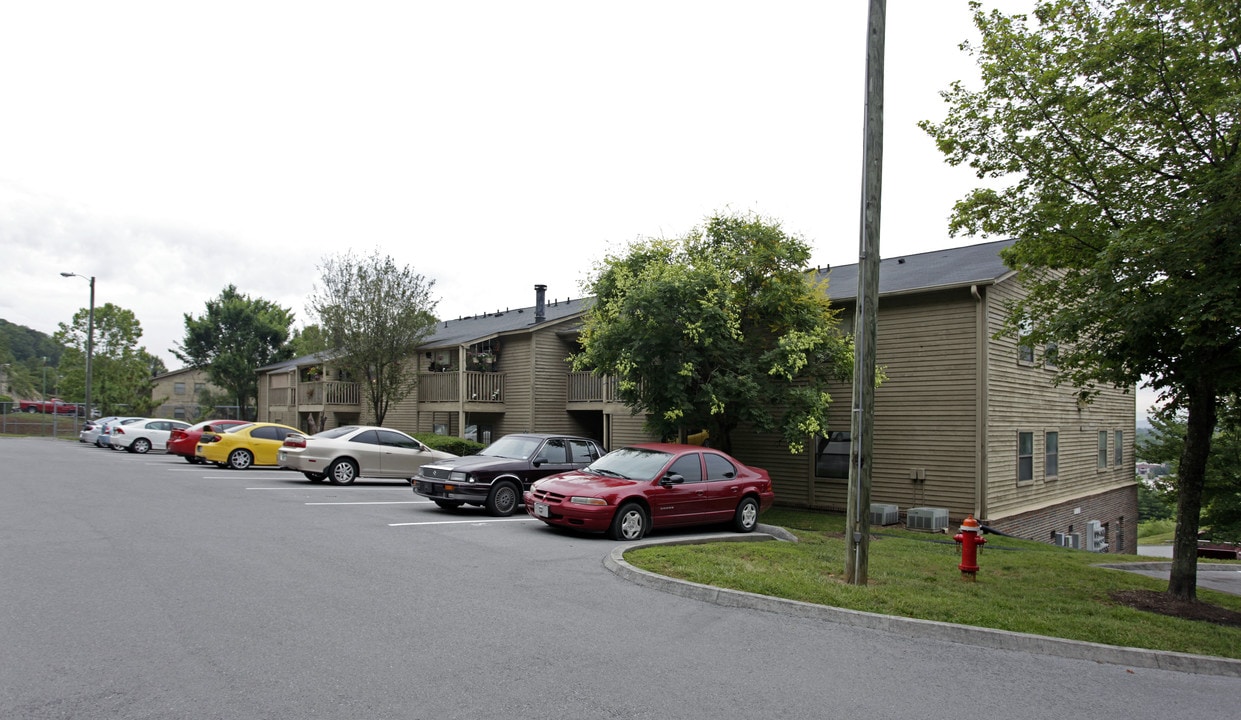
<svg viewBox="0 0 1241 720">
<path fill-rule="evenodd" d="M 1198 528 L 1203 511 L 1206 457 L 1215 434 L 1215 384 L 1195 382 L 1189 389 L 1185 421 L 1185 449 L 1176 468 L 1176 534 L 1173 539 L 1172 575 L 1168 595 L 1176 600 L 1198 598 Z"/>
</svg>

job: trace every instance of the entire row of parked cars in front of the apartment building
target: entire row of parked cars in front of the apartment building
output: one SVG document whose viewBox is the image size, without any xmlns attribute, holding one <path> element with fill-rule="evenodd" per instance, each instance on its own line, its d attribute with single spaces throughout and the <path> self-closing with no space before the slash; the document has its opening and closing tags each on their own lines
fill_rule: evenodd
<svg viewBox="0 0 1241 720">
<path fill-rule="evenodd" d="M 414 494 L 444 510 L 477 505 L 503 518 L 520 509 L 551 526 L 616 540 L 639 540 L 652 529 L 724 523 L 751 533 L 774 500 L 767 470 L 699 444 L 639 443 L 607 452 L 586 437 L 516 433 L 478 454 L 457 457 L 376 426 L 307 434 L 273 422 L 101 421 L 99 438 L 110 437 L 107 442 L 135 453 L 166 448 L 189 462 L 238 470 L 276 466 L 311 483 L 406 479 Z M 82 441 L 88 442 L 87 430 Z"/>
</svg>

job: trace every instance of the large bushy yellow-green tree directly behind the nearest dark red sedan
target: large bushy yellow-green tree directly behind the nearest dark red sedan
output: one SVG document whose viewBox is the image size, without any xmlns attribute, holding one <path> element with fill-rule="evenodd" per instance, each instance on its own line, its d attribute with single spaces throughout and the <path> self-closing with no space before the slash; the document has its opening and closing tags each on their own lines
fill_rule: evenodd
<svg viewBox="0 0 1241 720">
<path fill-rule="evenodd" d="M 781 432 L 791 451 L 827 427 L 828 385 L 853 371 L 836 310 L 804 268 L 805 241 L 773 221 L 716 215 L 678 240 L 630 243 L 588 282 L 573 366 L 618 381 L 648 430 L 707 430 L 730 451 L 750 423 Z"/>
</svg>

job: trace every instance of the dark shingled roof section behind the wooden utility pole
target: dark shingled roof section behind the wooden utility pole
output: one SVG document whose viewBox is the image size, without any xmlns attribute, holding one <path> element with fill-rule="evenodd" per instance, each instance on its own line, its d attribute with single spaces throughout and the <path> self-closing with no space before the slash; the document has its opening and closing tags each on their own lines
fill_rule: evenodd
<svg viewBox="0 0 1241 720">
<path fill-rule="evenodd" d="M 1000 251 L 1016 242 L 997 240 L 884 258 L 879 263 L 879 294 L 898 295 L 969 286 L 987 286 L 1008 277 Z M 818 271 L 815 279 L 828 278 L 828 297 L 833 302 L 858 297 L 858 264 L 843 264 Z"/>
</svg>

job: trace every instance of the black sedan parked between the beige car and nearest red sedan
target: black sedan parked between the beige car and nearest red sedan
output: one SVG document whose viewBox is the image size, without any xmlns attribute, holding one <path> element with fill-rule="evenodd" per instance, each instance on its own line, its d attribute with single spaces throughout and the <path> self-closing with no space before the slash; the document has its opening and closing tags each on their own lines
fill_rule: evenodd
<svg viewBox="0 0 1241 720">
<path fill-rule="evenodd" d="M 506 434 L 477 456 L 436 461 L 410 479 L 413 492 L 444 509 L 480 505 L 498 518 L 521 506 L 540 478 L 585 468 L 604 456 L 593 439 L 565 434 Z"/>
</svg>

